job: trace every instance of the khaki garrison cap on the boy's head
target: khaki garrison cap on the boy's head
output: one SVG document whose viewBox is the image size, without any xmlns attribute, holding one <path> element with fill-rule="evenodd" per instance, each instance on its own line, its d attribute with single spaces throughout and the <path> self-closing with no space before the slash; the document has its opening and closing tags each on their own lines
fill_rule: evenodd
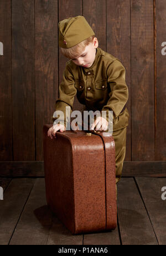
<svg viewBox="0 0 166 256">
<path fill-rule="evenodd" d="M 84 16 L 63 19 L 63 21 L 58 23 L 58 27 L 59 46 L 61 48 L 71 48 L 90 36 L 95 35 Z"/>
</svg>

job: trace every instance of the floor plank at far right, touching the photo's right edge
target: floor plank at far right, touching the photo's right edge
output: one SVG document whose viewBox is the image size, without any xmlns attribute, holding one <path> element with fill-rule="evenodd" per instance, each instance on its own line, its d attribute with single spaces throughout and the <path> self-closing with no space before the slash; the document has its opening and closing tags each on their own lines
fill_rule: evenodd
<svg viewBox="0 0 166 256">
<path fill-rule="evenodd" d="M 146 205 L 149 218 L 160 245 L 166 244 L 166 201 L 162 200 L 162 188 L 166 188 L 166 178 L 136 178 Z"/>
</svg>

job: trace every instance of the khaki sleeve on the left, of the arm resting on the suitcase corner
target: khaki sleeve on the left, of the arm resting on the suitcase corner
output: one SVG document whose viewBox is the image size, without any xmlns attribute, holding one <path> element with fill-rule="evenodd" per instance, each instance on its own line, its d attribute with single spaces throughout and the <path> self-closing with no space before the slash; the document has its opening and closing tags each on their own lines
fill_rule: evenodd
<svg viewBox="0 0 166 256">
<path fill-rule="evenodd" d="M 58 117 L 52 117 L 54 124 L 64 124 L 66 126 L 66 122 L 68 121 L 68 117 L 66 116 L 66 107 L 70 108 L 70 114 L 72 112 L 73 103 L 74 103 L 74 96 L 76 95 L 76 88 L 75 88 L 75 80 L 70 70 L 68 63 L 66 63 L 65 70 L 63 72 L 63 79 L 59 86 L 59 98 L 55 102 L 55 112 L 62 111 L 64 113 L 64 118 L 59 118 L 59 122 L 55 120 Z M 54 112 L 54 113 L 55 113 Z"/>
</svg>

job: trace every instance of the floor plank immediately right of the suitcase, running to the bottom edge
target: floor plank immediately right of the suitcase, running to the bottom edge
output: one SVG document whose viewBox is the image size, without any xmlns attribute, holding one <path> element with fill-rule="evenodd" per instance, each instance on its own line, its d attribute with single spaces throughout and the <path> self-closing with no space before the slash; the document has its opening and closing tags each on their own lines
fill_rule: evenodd
<svg viewBox="0 0 166 256">
<path fill-rule="evenodd" d="M 133 178 L 122 178 L 117 184 L 117 195 L 117 213 L 122 244 L 158 244 Z"/>
</svg>

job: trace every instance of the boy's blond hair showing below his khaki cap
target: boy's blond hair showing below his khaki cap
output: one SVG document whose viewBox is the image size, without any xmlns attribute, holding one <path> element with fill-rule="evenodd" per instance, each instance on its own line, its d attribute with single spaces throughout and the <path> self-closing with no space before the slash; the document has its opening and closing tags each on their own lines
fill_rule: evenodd
<svg viewBox="0 0 166 256">
<path fill-rule="evenodd" d="M 94 38 L 95 38 L 95 35 L 90 36 L 89 38 L 85 39 L 84 41 L 78 43 L 77 45 L 71 48 L 61 48 L 61 52 L 66 58 L 70 58 L 70 59 L 74 58 L 80 55 L 80 53 L 84 51 L 85 47 L 93 42 Z"/>
</svg>

